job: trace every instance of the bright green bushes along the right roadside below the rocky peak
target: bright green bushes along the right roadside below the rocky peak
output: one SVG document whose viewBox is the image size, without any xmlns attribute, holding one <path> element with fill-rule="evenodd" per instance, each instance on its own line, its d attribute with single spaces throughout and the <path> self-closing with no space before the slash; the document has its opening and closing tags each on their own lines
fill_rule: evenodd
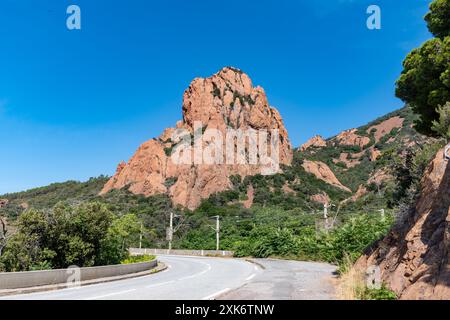
<svg viewBox="0 0 450 320">
<path fill-rule="evenodd" d="M 360 214 L 329 232 L 312 226 L 299 229 L 259 227 L 236 248 L 238 256 L 282 256 L 340 264 L 348 255 L 356 260 L 368 246 L 384 236 L 392 225 L 391 216 Z"/>
</svg>

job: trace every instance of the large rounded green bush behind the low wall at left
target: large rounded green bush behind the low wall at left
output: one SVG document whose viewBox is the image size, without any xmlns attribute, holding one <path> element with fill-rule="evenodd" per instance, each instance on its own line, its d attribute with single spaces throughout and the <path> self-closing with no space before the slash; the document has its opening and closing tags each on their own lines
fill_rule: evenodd
<svg viewBox="0 0 450 320">
<path fill-rule="evenodd" d="M 137 226 L 133 215 L 115 218 L 104 204 L 87 202 L 27 210 L 17 227 L 0 257 L 2 271 L 118 264 L 128 257 Z"/>
</svg>

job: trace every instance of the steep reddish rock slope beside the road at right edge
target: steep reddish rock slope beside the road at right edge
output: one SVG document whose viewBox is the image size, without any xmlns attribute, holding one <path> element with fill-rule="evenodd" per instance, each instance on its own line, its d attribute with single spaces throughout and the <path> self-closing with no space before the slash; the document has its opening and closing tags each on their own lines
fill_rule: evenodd
<svg viewBox="0 0 450 320">
<path fill-rule="evenodd" d="M 436 155 L 421 181 L 410 214 L 356 267 L 379 266 L 382 280 L 401 299 L 450 299 L 450 162 Z"/>
</svg>

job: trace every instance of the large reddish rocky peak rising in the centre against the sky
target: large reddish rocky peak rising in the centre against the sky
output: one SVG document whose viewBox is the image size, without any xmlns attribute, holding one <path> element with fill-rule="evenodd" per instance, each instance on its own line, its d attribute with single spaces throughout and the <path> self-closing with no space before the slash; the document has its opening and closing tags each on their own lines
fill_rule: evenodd
<svg viewBox="0 0 450 320">
<path fill-rule="evenodd" d="M 254 87 L 250 78 L 238 69 L 227 67 L 210 78 L 194 79 L 184 92 L 182 112 L 183 120 L 175 128 L 168 128 L 160 137 L 145 142 L 128 163 L 118 166 L 116 174 L 104 186 L 102 194 L 124 187 L 145 196 L 167 193 L 174 204 L 195 209 L 202 199 L 229 189 L 230 176 L 255 175 L 272 165 L 252 161 L 230 164 L 225 155 L 219 155 L 218 158 L 222 160 L 212 164 L 202 161 L 176 163 L 171 155 L 180 142 L 174 141 L 174 137 L 180 138 L 174 135 L 177 132 L 187 132 L 181 139 L 189 135 L 195 139 L 199 130 L 206 134 L 210 131 L 208 129 L 216 129 L 223 135 L 225 150 L 227 129 L 240 129 L 244 132 L 265 130 L 269 142 L 272 138 L 278 138 L 279 163 L 291 164 L 293 151 L 280 114 L 270 107 L 264 90 L 259 86 Z M 274 129 L 278 130 L 277 136 L 272 131 Z M 198 145 L 207 149 L 213 139 L 205 140 L 201 140 Z M 259 136 L 256 145 L 262 149 L 264 145 L 261 141 Z M 190 142 L 194 144 L 193 141 Z M 267 145 L 270 145 L 269 142 Z M 236 144 L 233 140 L 233 147 L 239 152 Z M 248 148 L 251 148 L 250 144 L 246 144 L 245 152 Z M 217 149 L 214 150 L 211 155 L 217 160 L 218 152 Z M 270 154 L 269 146 L 267 150 Z M 193 152 L 181 152 L 180 155 L 191 156 L 193 160 Z M 258 156 L 257 160 L 261 158 Z"/>
</svg>

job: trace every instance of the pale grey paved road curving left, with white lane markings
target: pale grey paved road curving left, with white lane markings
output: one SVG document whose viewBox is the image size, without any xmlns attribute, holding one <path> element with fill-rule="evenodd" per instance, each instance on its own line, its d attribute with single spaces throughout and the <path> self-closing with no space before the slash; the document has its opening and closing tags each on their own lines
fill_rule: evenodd
<svg viewBox="0 0 450 320">
<path fill-rule="evenodd" d="M 202 300 L 328 299 L 334 267 L 326 264 L 241 259 L 158 256 L 168 269 L 133 279 L 2 299 L 54 300 Z"/>
</svg>

